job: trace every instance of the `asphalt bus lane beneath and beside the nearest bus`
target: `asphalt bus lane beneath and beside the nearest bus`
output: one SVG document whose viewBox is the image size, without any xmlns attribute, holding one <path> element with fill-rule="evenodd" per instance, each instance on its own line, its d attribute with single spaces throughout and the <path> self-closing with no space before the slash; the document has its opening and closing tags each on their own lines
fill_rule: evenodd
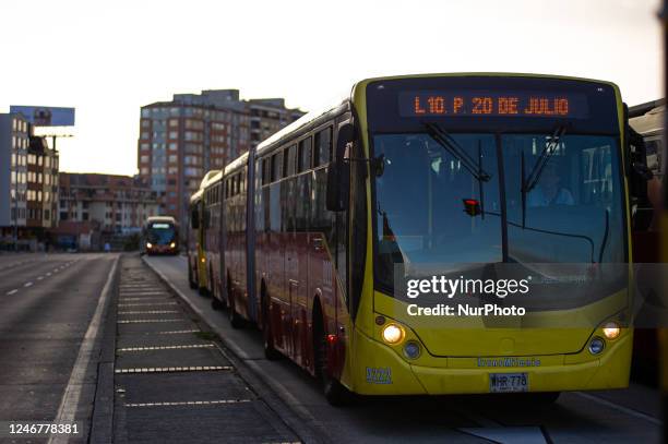
<svg viewBox="0 0 668 444">
<path fill-rule="evenodd" d="M 327 405 L 315 382 L 284 359 L 267 361 L 258 331 L 235 331 L 226 313 L 188 286 L 186 259 L 146 262 L 218 333 L 225 345 L 260 375 L 305 423 L 331 442 L 630 443 L 659 442 L 655 388 L 632 383 L 615 392 L 564 393 L 551 406 L 509 404 L 493 396 L 365 398 Z"/>
</svg>

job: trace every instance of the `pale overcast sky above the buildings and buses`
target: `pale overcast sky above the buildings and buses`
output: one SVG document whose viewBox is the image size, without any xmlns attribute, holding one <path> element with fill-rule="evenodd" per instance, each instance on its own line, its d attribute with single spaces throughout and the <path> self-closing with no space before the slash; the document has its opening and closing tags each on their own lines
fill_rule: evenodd
<svg viewBox="0 0 668 444">
<path fill-rule="evenodd" d="M 663 97 L 660 0 L 0 2 L 0 112 L 76 108 L 61 171 L 136 173 L 140 107 L 238 88 L 319 108 L 361 79 L 529 72 Z"/>
</svg>

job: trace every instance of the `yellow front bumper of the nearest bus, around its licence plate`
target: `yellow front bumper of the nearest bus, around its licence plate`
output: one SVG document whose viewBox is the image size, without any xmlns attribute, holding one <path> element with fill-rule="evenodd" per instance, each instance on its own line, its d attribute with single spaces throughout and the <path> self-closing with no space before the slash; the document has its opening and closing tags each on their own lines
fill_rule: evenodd
<svg viewBox="0 0 668 444">
<path fill-rule="evenodd" d="M 485 394 L 490 393 L 492 373 L 525 373 L 529 392 L 564 392 L 628 387 L 633 334 L 608 344 L 598 358 L 587 350 L 537 356 L 541 364 L 536 367 L 479 368 L 477 358 L 431 358 L 430 364 L 437 361 L 438 367 L 417 365 L 366 335 L 357 335 L 356 343 L 355 356 L 361 358 L 350 388 L 361 395 Z"/>
</svg>

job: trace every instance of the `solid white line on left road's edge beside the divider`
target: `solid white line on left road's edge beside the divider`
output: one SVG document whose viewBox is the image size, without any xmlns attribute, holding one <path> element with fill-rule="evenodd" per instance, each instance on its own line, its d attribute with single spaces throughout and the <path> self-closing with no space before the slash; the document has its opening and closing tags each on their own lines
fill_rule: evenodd
<svg viewBox="0 0 668 444">
<path fill-rule="evenodd" d="M 91 319 L 86 335 L 84 336 L 81 347 L 79 348 L 76 362 L 74 362 L 72 373 L 70 374 L 70 381 L 68 381 L 68 386 L 62 394 L 62 399 L 60 400 L 60 407 L 58 408 L 58 415 L 56 415 L 55 422 L 70 423 L 74 421 L 79 403 L 81 400 L 81 391 L 84 385 L 86 369 L 88 368 L 88 362 L 93 357 L 93 347 L 95 345 L 97 334 L 99 333 L 99 327 L 103 324 L 102 315 L 111 295 L 111 284 L 114 283 L 114 276 L 116 275 L 119 260 L 120 256 L 117 256 L 114 261 L 114 265 L 111 266 L 111 272 L 109 272 L 109 276 L 107 276 L 107 281 L 105 283 L 105 287 L 103 288 L 102 295 L 97 301 L 95 313 L 93 314 L 93 319 Z M 65 434 L 51 435 L 48 443 L 68 443 L 70 439 Z"/>
</svg>

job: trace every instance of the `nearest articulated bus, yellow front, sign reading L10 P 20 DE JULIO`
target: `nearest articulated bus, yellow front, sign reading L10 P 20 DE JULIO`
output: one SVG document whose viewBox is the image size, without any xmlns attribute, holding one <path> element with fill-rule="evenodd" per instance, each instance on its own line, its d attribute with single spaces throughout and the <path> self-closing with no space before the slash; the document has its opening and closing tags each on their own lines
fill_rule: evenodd
<svg viewBox="0 0 668 444">
<path fill-rule="evenodd" d="M 333 404 L 350 392 L 553 400 L 562 391 L 625 387 L 628 190 L 640 180 L 627 133 L 609 82 L 361 81 L 207 181 L 207 217 L 219 215 L 205 245 L 205 260 L 219 260 L 207 272 L 215 305 L 227 307 L 235 327 L 261 328 L 267 358 L 306 369 Z M 550 272 L 598 276 L 615 264 L 625 278 L 600 287 Z M 488 314 L 416 315 L 437 305 L 416 307 L 422 297 L 407 297 L 402 280 L 494 277 L 504 265 L 537 288 L 524 296 L 525 313 L 505 317 L 510 325 Z"/>
</svg>

